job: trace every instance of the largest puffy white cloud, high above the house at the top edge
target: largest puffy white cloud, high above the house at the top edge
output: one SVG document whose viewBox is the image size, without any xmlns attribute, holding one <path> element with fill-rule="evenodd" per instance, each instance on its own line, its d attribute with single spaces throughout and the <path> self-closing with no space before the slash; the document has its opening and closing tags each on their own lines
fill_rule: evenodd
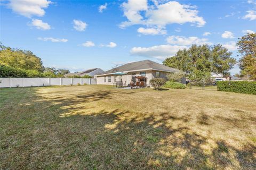
<svg viewBox="0 0 256 170">
<path fill-rule="evenodd" d="M 197 15 L 196 6 L 182 5 L 175 1 L 164 4 L 155 3 L 155 5 L 148 6 L 147 0 L 129 0 L 127 3 L 123 3 L 122 7 L 128 21 L 122 22 L 119 25 L 121 28 L 134 24 L 163 28 L 167 24 L 183 24 L 186 22 L 202 27 L 206 23 L 201 16 Z M 142 15 L 142 12 L 144 15 Z"/>
</svg>

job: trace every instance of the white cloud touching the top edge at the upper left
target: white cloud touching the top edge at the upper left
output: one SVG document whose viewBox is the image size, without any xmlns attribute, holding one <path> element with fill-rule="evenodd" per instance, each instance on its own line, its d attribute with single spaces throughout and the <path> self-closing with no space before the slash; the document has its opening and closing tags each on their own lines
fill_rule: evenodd
<svg viewBox="0 0 256 170">
<path fill-rule="evenodd" d="M 51 1 L 47 0 L 11 0 L 8 7 L 10 7 L 15 13 L 31 18 L 33 15 L 44 16 L 44 8 L 47 8 L 51 3 Z"/>
</svg>

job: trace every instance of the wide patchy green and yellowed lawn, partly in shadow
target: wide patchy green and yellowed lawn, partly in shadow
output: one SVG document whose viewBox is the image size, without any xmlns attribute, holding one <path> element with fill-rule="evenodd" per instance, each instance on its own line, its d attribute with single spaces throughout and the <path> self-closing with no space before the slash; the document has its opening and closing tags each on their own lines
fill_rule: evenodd
<svg viewBox="0 0 256 170">
<path fill-rule="evenodd" d="M 255 169 L 256 95 L 0 89 L 0 169 Z"/>
</svg>

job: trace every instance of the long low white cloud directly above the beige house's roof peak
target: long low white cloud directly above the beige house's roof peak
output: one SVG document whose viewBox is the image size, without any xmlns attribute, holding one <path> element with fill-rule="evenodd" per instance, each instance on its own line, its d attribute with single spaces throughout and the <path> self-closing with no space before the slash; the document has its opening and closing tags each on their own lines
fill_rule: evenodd
<svg viewBox="0 0 256 170">
<path fill-rule="evenodd" d="M 153 47 L 133 47 L 130 53 L 132 55 L 154 57 L 159 60 L 164 60 L 166 57 L 175 55 L 179 49 L 184 48 L 187 48 L 187 46 L 158 45 Z"/>
</svg>

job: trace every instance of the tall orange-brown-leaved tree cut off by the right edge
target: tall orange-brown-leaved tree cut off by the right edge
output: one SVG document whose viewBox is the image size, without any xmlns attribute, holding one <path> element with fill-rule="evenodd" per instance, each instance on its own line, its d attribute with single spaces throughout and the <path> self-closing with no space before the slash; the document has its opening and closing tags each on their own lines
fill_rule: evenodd
<svg viewBox="0 0 256 170">
<path fill-rule="evenodd" d="M 247 33 L 239 38 L 238 52 L 241 53 L 239 68 L 244 77 L 256 81 L 256 33 Z"/>
</svg>

